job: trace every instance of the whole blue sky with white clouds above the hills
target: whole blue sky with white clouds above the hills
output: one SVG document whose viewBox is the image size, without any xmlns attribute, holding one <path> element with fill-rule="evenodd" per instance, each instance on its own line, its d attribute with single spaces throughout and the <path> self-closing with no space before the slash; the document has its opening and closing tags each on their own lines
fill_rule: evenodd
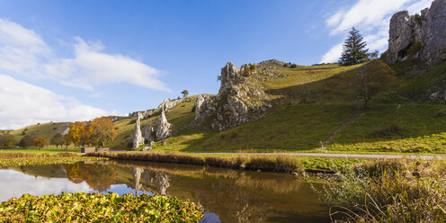
<svg viewBox="0 0 446 223">
<path fill-rule="evenodd" d="M 334 62 L 352 26 L 383 51 L 391 15 L 431 2 L 2 0 L 0 129 L 216 94 L 227 61 Z"/>
</svg>

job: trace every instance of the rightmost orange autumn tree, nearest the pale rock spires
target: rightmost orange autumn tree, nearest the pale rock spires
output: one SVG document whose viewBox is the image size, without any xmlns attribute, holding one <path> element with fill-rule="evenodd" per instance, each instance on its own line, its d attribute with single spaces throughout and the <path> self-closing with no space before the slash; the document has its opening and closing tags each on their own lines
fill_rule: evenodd
<svg viewBox="0 0 446 223">
<path fill-rule="evenodd" d="M 118 135 L 113 121 L 108 117 L 96 118 L 90 121 L 91 128 L 90 140 L 95 145 L 104 147 L 106 141 L 113 140 Z"/>
</svg>

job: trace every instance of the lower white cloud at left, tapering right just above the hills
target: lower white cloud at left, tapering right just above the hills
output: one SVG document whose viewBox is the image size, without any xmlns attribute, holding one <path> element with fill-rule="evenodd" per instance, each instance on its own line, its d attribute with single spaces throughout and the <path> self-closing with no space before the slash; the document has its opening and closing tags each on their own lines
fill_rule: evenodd
<svg viewBox="0 0 446 223">
<path fill-rule="evenodd" d="M 0 75 L 0 129 L 19 129 L 38 122 L 92 120 L 117 114 L 94 108 L 48 89 Z"/>
</svg>

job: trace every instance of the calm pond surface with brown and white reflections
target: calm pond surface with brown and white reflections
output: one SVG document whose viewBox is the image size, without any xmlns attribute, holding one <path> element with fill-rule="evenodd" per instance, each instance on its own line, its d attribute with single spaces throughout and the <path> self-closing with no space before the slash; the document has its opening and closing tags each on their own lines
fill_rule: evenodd
<svg viewBox="0 0 446 223">
<path fill-rule="evenodd" d="M 107 161 L 8 167 L 0 169 L 0 179 L 0 201 L 23 193 L 156 192 L 201 204 L 201 222 L 329 221 L 328 206 L 319 201 L 311 183 L 289 174 Z"/>
</svg>

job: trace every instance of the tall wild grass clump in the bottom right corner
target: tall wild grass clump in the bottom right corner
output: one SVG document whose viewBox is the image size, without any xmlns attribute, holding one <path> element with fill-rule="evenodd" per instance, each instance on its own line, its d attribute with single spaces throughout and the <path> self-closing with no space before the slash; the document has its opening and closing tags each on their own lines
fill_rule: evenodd
<svg viewBox="0 0 446 223">
<path fill-rule="evenodd" d="M 445 174 L 444 161 L 377 161 L 344 168 L 323 194 L 345 222 L 444 222 Z"/>
</svg>

